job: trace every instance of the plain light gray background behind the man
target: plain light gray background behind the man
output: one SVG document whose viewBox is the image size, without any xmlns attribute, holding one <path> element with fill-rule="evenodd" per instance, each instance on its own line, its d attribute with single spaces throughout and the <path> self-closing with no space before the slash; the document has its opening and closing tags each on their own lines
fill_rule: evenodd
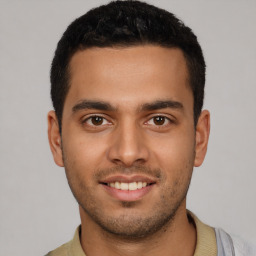
<svg viewBox="0 0 256 256">
<path fill-rule="evenodd" d="M 149 1 L 154 3 L 154 1 Z M 105 1 L 0 1 L 0 255 L 44 255 L 79 224 L 48 147 L 49 69 L 61 34 Z M 256 241 L 256 1 L 155 1 L 198 35 L 207 62 L 208 155 L 188 208 Z"/>
</svg>

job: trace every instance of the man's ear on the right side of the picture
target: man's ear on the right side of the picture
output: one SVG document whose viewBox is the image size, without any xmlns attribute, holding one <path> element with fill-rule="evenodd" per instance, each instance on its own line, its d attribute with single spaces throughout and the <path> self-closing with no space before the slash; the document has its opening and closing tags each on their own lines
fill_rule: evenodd
<svg viewBox="0 0 256 256">
<path fill-rule="evenodd" d="M 199 116 L 196 126 L 196 146 L 194 166 L 200 166 L 205 158 L 210 134 L 210 113 L 203 110 Z"/>
</svg>

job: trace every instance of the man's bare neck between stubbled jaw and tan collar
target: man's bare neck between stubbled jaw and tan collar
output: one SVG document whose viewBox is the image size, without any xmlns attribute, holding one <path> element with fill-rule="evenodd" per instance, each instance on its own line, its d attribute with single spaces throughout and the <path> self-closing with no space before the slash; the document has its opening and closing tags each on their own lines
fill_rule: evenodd
<svg viewBox="0 0 256 256">
<path fill-rule="evenodd" d="M 139 239 L 110 234 L 80 208 L 82 248 L 88 256 L 192 256 L 196 246 L 196 229 L 188 219 L 185 205 L 184 202 L 161 230 Z"/>
</svg>

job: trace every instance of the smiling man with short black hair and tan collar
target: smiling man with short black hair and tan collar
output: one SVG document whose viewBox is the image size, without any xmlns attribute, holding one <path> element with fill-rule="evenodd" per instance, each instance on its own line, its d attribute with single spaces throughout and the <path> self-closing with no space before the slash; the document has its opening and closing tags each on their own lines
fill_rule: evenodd
<svg viewBox="0 0 256 256">
<path fill-rule="evenodd" d="M 242 255 L 186 210 L 209 138 L 204 84 L 196 36 L 164 10 L 115 1 L 67 28 L 52 62 L 48 136 L 81 226 L 48 255 Z"/>
</svg>

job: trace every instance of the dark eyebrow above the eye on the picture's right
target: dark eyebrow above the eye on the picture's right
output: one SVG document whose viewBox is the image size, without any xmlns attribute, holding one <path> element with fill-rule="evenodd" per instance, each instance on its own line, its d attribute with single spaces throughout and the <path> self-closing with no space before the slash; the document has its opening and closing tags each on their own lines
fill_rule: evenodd
<svg viewBox="0 0 256 256">
<path fill-rule="evenodd" d="M 145 103 L 141 106 L 141 111 L 152 111 L 162 108 L 180 109 L 183 110 L 183 104 L 173 100 L 157 100 L 152 103 Z"/>
</svg>

